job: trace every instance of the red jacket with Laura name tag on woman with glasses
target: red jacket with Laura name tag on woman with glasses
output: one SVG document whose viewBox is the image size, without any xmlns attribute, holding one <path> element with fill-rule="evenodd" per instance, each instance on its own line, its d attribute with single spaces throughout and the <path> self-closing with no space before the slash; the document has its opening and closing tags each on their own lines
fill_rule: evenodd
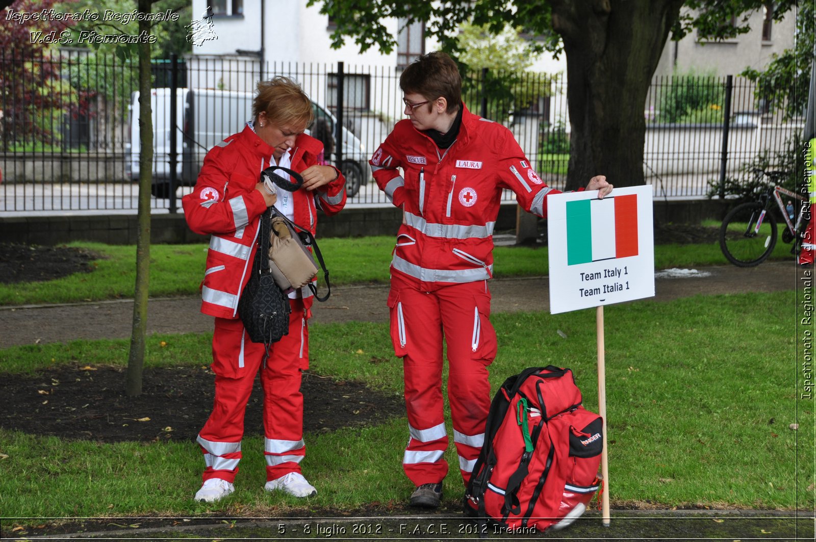
<svg viewBox="0 0 816 542">
<path fill-rule="evenodd" d="M 546 196 L 558 193 L 530 168 L 506 127 L 462 107 L 462 125 L 450 148 L 439 149 L 405 119 L 370 160 L 379 188 L 405 211 L 392 269 L 419 281 L 420 288 L 492 278 L 493 229 L 503 189 L 539 216 L 546 215 Z"/>
</svg>

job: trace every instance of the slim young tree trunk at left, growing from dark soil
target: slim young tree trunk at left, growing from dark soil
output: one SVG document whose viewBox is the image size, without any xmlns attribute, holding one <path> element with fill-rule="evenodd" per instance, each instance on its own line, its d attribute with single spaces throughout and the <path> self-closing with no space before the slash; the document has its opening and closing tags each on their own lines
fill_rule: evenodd
<svg viewBox="0 0 816 542">
<path fill-rule="evenodd" d="M 142 13 L 151 11 L 152 0 L 139 0 Z M 150 23 L 139 21 L 139 32 L 150 33 Z M 144 343 L 148 322 L 148 293 L 150 274 L 150 184 L 153 182 L 153 110 L 150 106 L 152 77 L 150 70 L 150 43 L 140 43 L 139 51 L 139 233 L 136 237 L 136 284 L 133 299 L 133 327 L 131 351 L 127 357 L 125 393 L 135 397 L 142 393 Z"/>
</svg>

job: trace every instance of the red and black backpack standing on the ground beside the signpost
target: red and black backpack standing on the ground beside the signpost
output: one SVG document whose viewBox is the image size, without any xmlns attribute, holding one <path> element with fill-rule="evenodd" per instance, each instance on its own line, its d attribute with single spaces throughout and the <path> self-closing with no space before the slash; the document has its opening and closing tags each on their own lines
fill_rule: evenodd
<svg viewBox="0 0 816 542">
<path fill-rule="evenodd" d="M 601 486 L 602 427 L 601 416 L 581 406 L 570 369 L 511 376 L 490 403 L 465 512 L 509 530 L 570 525 Z"/>
</svg>

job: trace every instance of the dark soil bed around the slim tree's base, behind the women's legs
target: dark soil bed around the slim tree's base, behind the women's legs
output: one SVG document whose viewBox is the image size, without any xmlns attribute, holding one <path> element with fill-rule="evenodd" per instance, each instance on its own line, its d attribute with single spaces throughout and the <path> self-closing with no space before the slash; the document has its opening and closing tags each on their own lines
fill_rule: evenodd
<svg viewBox="0 0 816 542">
<path fill-rule="evenodd" d="M 97 442 L 190 442 L 210 415 L 215 375 L 202 367 L 144 371 L 143 393 L 128 398 L 118 367 L 66 365 L 36 376 L 0 380 L 0 427 Z M 304 430 L 326 432 L 381 424 L 404 415 L 401 397 L 355 381 L 304 373 Z M 246 407 L 246 434 L 263 434 L 263 393 L 255 379 Z"/>
</svg>

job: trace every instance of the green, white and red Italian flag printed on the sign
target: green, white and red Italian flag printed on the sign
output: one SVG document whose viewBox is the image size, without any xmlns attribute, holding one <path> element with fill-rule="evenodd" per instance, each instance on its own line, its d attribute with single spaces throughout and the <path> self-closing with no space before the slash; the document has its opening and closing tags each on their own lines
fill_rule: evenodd
<svg viewBox="0 0 816 542">
<path fill-rule="evenodd" d="M 566 202 L 567 265 L 637 255 L 637 194 Z"/>
</svg>

